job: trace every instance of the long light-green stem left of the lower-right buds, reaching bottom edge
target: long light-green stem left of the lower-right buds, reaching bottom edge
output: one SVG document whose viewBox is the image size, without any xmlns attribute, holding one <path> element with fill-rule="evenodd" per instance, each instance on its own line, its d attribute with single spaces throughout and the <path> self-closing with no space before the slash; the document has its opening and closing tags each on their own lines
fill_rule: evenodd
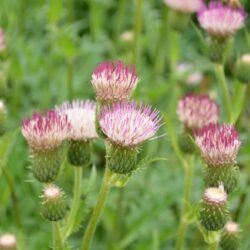
<svg viewBox="0 0 250 250">
<path fill-rule="evenodd" d="M 183 249 L 185 235 L 187 230 L 187 221 L 186 221 L 186 214 L 189 209 L 189 202 L 190 202 L 190 194 L 191 194 L 191 187 L 192 187 L 192 177 L 193 177 L 193 155 L 188 156 L 188 161 L 186 167 L 184 166 L 185 170 L 185 186 L 184 186 L 184 199 L 183 199 L 183 207 L 182 207 L 182 214 L 181 214 L 181 222 L 179 226 L 178 236 L 176 240 L 175 249 L 181 250 Z"/>
</svg>

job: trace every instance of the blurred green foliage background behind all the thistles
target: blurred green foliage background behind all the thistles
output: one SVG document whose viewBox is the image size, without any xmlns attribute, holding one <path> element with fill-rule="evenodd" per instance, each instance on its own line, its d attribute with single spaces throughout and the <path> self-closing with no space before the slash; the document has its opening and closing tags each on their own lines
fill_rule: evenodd
<svg viewBox="0 0 250 250">
<path fill-rule="evenodd" d="M 244 4 L 250 10 L 247 2 Z M 163 1 L 154 0 L 0 1 L 0 27 L 6 35 L 6 50 L 1 54 L 0 62 L 6 81 L 2 99 L 8 110 L 8 130 L 15 131 L 0 140 L 1 164 L 8 175 L 6 182 L 6 176 L 0 172 L 0 233 L 16 234 L 20 249 L 50 249 L 52 240 L 51 226 L 39 213 L 42 186 L 30 175 L 28 147 L 18 129 L 21 120 L 33 111 L 48 110 L 64 100 L 94 99 L 90 79 L 98 63 L 119 59 L 136 64 L 141 80 L 133 98 L 167 114 L 177 132 L 182 127 L 176 117 L 176 103 L 184 93 L 210 92 L 221 103 L 211 64 L 202 53 L 195 15 L 181 34 L 171 31 L 168 15 L 169 9 Z M 248 22 L 237 34 L 234 56 L 250 51 L 249 27 Z M 205 75 L 202 84 L 190 87 L 173 80 L 171 58 L 176 62 L 190 62 L 195 70 L 202 71 Z M 232 57 L 227 65 L 231 85 L 234 59 Z M 4 79 L 0 81 L 3 88 Z M 250 249 L 249 103 L 247 100 L 244 114 L 237 124 L 243 141 L 238 157 L 241 178 L 229 203 L 232 217 L 241 223 L 243 229 L 244 250 Z M 223 106 L 221 110 L 223 114 Z M 166 124 L 168 122 L 170 120 L 166 119 Z M 166 124 L 159 132 L 160 138 L 146 143 L 141 154 L 168 160 L 150 164 L 134 175 L 125 189 L 111 190 L 92 249 L 174 248 L 184 175 L 173 153 Z M 99 190 L 104 155 L 103 143 L 96 141 L 93 153 L 96 168 L 86 169 L 84 173 L 86 190 L 82 197 L 82 213 L 87 218 Z M 66 163 L 64 167 L 57 183 L 70 199 L 73 172 Z M 7 184 L 10 183 L 14 191 L 9 189 Z M 198 203 L 203 190 L 202 165 L 197 157 L 192 186 L 194 204 Z M 86 221 L 70 238 L 72 249 L 79 246 Z M 207 249 L 192 220 L 186 249 Z"/>
</svg>

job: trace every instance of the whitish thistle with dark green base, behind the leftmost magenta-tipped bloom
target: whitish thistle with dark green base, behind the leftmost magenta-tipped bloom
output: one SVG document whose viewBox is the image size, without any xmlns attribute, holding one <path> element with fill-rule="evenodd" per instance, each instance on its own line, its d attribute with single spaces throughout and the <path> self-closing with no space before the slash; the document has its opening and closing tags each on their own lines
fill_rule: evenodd
<svg viewBox="0 0 250 250">
<path fill-rule="evenodd" d="M 68 160 L 74 166 L 90 163 L 90 141 L 98 137 L 95 128 L 95 109 L 95 102 L 89 100 L 65 102 L 56 107 L 60 114 L 68 117 L 72 128 L 67 137 L 70 140 Z"/>
</svg>

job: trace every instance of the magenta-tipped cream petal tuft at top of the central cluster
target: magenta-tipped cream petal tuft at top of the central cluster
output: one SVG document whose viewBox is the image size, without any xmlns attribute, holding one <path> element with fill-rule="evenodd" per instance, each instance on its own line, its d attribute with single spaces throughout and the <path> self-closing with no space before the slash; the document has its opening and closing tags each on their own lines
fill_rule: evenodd
<svg viewBox="0 0 250 250">
<path fill-rule="evenodd" d="M 91 83 L 96 98 L 101 101 L 119 101 L 128 99 L 138 83 L 133 66 L 124 63 L 101 63 L 92 74 Z"/>
</svg>

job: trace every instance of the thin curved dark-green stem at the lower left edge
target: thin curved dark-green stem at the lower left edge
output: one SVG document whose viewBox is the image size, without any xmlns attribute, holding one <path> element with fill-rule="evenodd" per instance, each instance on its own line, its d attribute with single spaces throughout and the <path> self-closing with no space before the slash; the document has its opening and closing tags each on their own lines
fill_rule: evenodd
<svg viewBox="0 0 250 250">
<path fill-rule="evenodd" d="M 7 169 L 4 166 L 1 166 L 1 169 L 2 169 L 3 176 L 7 182 L 7 185 L 8 185 L 9 190 L 10 190 L 11 201 L 12 201 L 12 206 L 13 206 L 13 212 L 15 214 L 16 225 L 18 228 L 22 228 L 20 210 L 19 210 L 18 199 L 17 199 L 16 190 L 15 190 L 15 185 L 14 185 L 13 180 L 11 179 Z"/>
</svg>

